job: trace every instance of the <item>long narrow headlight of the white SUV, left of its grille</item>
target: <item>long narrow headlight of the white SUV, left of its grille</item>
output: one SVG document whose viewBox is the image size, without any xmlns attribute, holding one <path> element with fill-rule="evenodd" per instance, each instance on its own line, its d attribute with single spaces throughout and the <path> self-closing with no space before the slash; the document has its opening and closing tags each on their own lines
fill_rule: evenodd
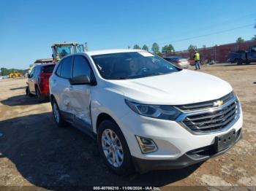
<svg viewBox="0 0 256 191">
<path fill-rule="evenodd" d="M 133 112 L 146 117 L 154 117 L 162 120 L 176 120 L 178 115 L 181 114 L 181 112 L 173 106 L 137 104 L 128 100 L 125 100 L 125 103 Z"/>
</svg>

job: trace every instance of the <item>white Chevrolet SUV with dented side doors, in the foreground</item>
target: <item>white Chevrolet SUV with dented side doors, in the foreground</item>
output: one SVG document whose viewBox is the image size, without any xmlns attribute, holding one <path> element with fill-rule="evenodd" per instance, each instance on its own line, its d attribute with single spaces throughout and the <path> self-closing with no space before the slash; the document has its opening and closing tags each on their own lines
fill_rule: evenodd
<svg viewBox="0 0 256 191">
<path fill-rule="evenodd" d="M 68 55 L 50 77 L 57 125 L 94 136 L 116 174 L 184 168 L 241 138 L 241 106 L 222 79 L 143 50 Z"/>
</svg>

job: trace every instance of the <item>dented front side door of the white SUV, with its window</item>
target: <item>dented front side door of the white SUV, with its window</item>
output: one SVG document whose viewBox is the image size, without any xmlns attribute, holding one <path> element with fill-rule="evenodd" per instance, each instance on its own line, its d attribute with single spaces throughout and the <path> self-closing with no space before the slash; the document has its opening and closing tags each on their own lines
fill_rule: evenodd
<svg viewBox="0 0 256 191">
<path fill-rule="evenodd" d="M 83 55 L 75 55 L 72 77 L 86 75 L 94 77 L 90 63 Z M 75 115 L 75 123 L 78 126 L 85 125 L 91 128 L 91 85 L 72 85 L 70 87 L 70 107 Z"/>
</svg>

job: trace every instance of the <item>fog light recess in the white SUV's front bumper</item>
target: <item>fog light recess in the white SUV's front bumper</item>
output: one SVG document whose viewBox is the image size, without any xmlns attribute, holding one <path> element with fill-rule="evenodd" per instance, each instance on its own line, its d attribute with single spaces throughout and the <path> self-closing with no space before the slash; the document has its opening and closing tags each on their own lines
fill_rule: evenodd
<svg viewBox="0 0 256 191">
<path fill-rule="evenodd" d="M 149 153 L 157 151 L 157 144 L 154 143 L 152 139 L 148 139 L 142 136 L 135 136 L 138 144 L 140 146 L 140 150 L 142 153 Z"/>
</svg>

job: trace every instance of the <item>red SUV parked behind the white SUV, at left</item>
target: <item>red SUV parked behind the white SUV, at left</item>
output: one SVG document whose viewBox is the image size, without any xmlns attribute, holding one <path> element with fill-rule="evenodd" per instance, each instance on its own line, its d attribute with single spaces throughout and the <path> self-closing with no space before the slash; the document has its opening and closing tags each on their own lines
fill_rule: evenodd
<svg viewBox="0 0 256 191">
<path fill-rule="evenodd" d="M 55 64 L 42 63 L 34 66 L 28 75 L 26 95 L 37 95 L 39 102 L 49 98 L 49 78 L 53 73 Z"/>
</svg>

